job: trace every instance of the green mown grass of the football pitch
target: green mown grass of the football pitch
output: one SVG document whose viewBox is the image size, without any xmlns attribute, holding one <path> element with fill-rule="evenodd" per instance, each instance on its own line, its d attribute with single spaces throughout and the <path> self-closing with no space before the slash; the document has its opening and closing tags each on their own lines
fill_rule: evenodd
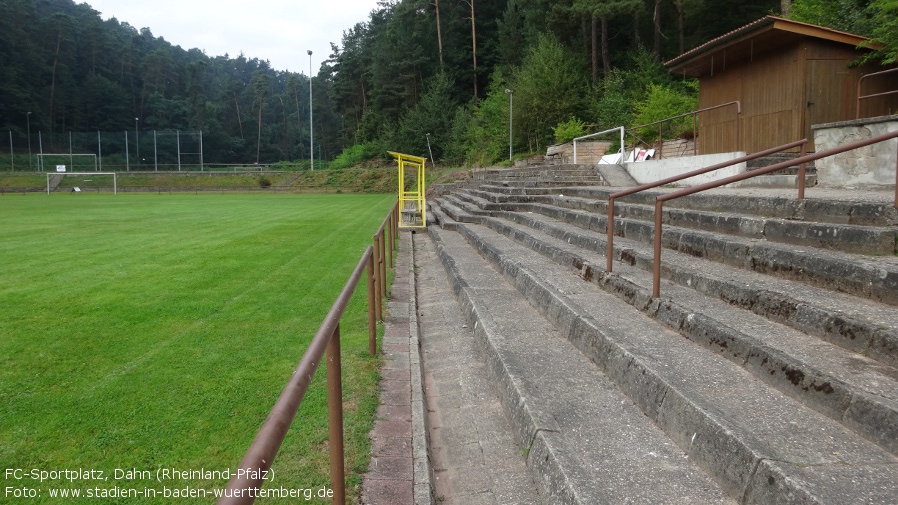
<svg viewBox="0 0 898 505">
<path fill-rule="evenodd" d="M 0 467 L 234 470 L 391 195 L 29 195 L 0 199 Z M 350 487 L 367 467 L 378 359 L 362 282 L 341 325 Z M 324 370 L 272 486 L 329 486 Z M 352 493 L 353 491 L 350 491 Z M 0 494 L 0 502 L 8 497 Z M 79 500 L 75 500 L 76 502 Z M 175 500 L 183 502 L 184 500 Z M 198 499 L 194 503 L 210 503 Z M 107 503 L 171 503 L 171 499 Z M 189 502 L 189 500 L 188 500 Z M 284 500 L 259 500 L 257 503 Z"/>
</svg>

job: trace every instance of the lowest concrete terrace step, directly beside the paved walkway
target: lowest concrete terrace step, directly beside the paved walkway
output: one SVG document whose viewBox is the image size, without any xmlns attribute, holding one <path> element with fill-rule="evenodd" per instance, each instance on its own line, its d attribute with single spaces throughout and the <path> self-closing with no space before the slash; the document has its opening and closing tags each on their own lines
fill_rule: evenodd
<svg viewBox="0 0 898 505">
<path fill-rule="evenodd" d="M 458 234 L 429 230 L 545 502 L 728 503 Z"/>
</svg>

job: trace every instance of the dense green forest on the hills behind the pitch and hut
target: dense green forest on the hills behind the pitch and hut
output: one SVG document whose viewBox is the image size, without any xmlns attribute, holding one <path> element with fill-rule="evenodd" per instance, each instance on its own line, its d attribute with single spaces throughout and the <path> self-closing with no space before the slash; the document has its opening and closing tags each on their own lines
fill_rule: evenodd
<svg viewBox="0 0 898 505">
<path fill-rule="evenodd" d="M 890 0 L 384 0 L 311 77 L 315 154 L 342 166 L 429 141 L 437 159 L 488 164 L 507 158 L 509 107 L 516 153 L 682 112 L 695 83 L 662 62 L 767 14 L 873 37 L 895 61 Z M 0 0 L 0 72 L 0 131 L 16 138 L 201 130 L 207 162 L 309 157 L 309 76 L 86 3 Z"/>
</svg>

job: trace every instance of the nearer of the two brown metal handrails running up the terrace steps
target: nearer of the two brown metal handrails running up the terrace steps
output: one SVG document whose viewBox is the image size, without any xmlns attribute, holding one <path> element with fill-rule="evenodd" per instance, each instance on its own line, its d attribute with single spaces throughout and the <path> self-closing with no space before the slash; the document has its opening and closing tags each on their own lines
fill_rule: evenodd
<svg viewBox="0 0 898 505">
<path fill-rule="evenodd" d="M 678 191 L 673 191 L 671 193 L 657 196 L 655 198 L 655 251 L 652 264 L 652 297 L 658 298 L 659 296 L 661 296 L 661 215 L 664 212 L 664 202 L 680 198 L 681 196 L 687 196 L 693 193 L 698 193 L 700 191 L 705 191 L 708 189 L 724 186 L 726 184 L 731 184 L 733 182 L 743 181 L 745 179 L 750 179 L 759 175 L 769 174 L 770 172 L 776 172 L 777 170 L 782 170 L 783 168 L 794 166 L 796 163 L 804 165 L 809 161 L 819 160 L 821 158 L 826 158 L 828 156 L 844 153 L 846 151 L 851 151 L 860 147 L 877 144 L 879 142 L 883 142 L 893 138 L 898 138 L 898 131 L 884 133 L 882 135 L 870 137 L 865 140 L 859 140 L 850 144 L 827 149 L 826 151 L 807 154 L 791 161 L 784 161 L 758 170 L 752 170 L 751 172 L 744 172 L 738 175 L 726 177 L 719 181 L 708 182 L 705 184 L 700 184 L 698 186 L 693 186 L 691 188 L 684 188 Z M 896 156 L 898 156 L 898 150 L 896 150 Z M 898 208 L 898 162 L 896 162 L 895 165 L 895 208 Z"/>
</svg>

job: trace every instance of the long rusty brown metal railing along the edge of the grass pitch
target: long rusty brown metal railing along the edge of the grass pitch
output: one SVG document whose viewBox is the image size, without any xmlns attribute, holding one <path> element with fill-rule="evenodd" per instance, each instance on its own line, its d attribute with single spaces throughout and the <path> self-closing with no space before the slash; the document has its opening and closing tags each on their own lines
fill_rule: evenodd
<svg viewBox="0 0 898 505">
<path fill-rule="evenodd" d="M 277 401 L 275 401 L 271 412 L 240 461 L 237 468 L 241 471 L 233 474 L 234 476 L 228 482 L 224 496 L 217 502 L 218 505 L 244 505 L 255 501 L 259 494 L 258 490 L 265 482 L 264 476 L 268 474 L 268 470 L 271 468 L 281 443 L 283 443 L 284 437 L 287 435 L 287 430 L 289 430 L 299 405 L 302 403 L 306 390 L 312 382 L 312 376 L 318 369 L 325 352 L 327 353 L 328 448 L 330 450 L 330 478 L 333 490 L 332 503 L 346 503 L 340 319 L 362 277 L 363 270 L 367 268 L 369 352 L 372 355 L 376 354 L 376 318 L 378 316 L 375 305 L 378 307 L 381 305 L 379 297 L 384 293 L 384 290 L 378 290 L 376 287 L 383 282 L 381 269 L 384 268 L 384 262 L 382 260 L 383 255 L 380 256 L 381 261 L 379 264 L 375 261 L 375 256 L 377 256 L 377 246 L 385 247 L 385 229 L 391 230 L 391 233 L 395 233 L 398 229 L 397 209 L 398 203 L 393 206 L 387 218 L 384 219 L 384 223 L 381 225 L 378 233 L 375 234 L 375 245 L 368 246 L 365 249 L 349 280 L 346 281 L 343 290 L 337 296 L 330 311 L 312 338 L 312 342 L 303 354 L 302 359 L 281 391 L 280 396 L 278 396 Z M 389 247 L 390 258 L 393 257 L 396 245 L 395 237 L 395 234 L 391 235 L 393 240 L 391 240 Z M 380 292 L 378 293 L 378 291 Z M 382 314 L 380 317 L 382 318 Z"/>
</svg>

